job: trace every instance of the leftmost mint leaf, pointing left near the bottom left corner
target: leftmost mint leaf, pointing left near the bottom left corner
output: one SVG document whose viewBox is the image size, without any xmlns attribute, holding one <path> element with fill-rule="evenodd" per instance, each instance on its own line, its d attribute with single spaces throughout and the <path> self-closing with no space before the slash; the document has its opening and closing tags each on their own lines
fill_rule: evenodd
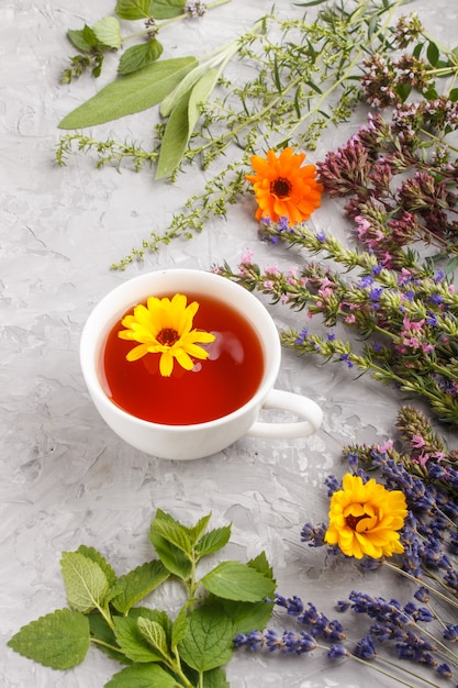
<svg viewBox="0 0 458 688">
<path fill-rule="evenodd" d="M 89 621 L 85 614 L 57 609 L 23 626 L 8 645 L 24 657 L 53 669 L 70 669 L 89 650 Z"/>
</svg>

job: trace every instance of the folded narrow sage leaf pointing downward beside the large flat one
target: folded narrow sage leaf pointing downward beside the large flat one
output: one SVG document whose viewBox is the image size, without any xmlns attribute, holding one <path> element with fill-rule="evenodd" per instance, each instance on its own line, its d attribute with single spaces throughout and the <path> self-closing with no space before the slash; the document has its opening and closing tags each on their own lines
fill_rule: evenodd
<svg viewBox="0 0 458 688">
<path fill-rule="evenodd" d="M 219 78 L 217 69 L 209 69 L 188 93 L 181 96 L 170 113 L 160 145 L 156 179 L 170 175 L 180 164 L 189 138 L 200 115 L 200 103 L 205 102 Z"/>
</svg>

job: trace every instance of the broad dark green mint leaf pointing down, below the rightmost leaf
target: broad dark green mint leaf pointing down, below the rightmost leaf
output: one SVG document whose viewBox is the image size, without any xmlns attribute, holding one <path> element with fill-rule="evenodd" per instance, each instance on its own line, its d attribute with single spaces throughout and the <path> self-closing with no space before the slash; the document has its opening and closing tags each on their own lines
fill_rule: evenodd
<svg viewBox="0 0 458 688">
<path fill-rule="evenodd" d="M 201 607 L 188 615 L 186 635 L 178 644 L 180 657 L 193 669 L 206 672 L 232 656 L 234 626 L 227 617 Z"/>
</svg>

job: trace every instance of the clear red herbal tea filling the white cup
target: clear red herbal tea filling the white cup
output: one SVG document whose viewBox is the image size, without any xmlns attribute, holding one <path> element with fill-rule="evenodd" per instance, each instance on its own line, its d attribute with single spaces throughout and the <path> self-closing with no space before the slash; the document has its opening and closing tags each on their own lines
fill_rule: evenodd
<svg viewBox="0 0 458 688">
<path fill-rule="evenodd" d="M 167 295 L 161 295 L 160 298 Z M 264 353 L 250 323 L 234 308 L 206 295 L 188 293 L 199 302 L 192 328 L 215 335 L 202 344 L 205 360 L 192 370 L 174 366 L 170 377 L 159 373 L 159 354 L 126 360 L 133 342 L 119 337 L 121 320 L 112 328 L 103 352 L 103 379 L 108 397 L 137 418 L 167 425 L 188 425 L 227 415 L 246 403 L 258 389 Z"/>
</svg>

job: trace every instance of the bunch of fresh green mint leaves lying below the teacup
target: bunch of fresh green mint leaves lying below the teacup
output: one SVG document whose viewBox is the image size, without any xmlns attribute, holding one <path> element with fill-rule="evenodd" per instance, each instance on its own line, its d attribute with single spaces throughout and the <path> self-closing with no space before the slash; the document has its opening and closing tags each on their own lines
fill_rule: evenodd
<svg viewBox="0 0 458 688">
<path fill-rule="evenodd" d="M 80 664 L 91 644 L 126 665 L 105 688 L 227 688 L 224 665 L 233 637 L 264 628 L 275 592 L 265 553 L 247 564 L 220 562 L 200 577 L 200 562 L 224 547 L 231 525 L 209 529 L 211 514 L 187 526 L 158 509 L 149 540 L 158 558 L 118 576 L 93 547 L 62 554 L 70 609 L 57 609 L 23 626 L 8 643 L 54 669 Z M 175 619 L 144 600 L 166 580 L 187 599 Z"/>
</svg>

